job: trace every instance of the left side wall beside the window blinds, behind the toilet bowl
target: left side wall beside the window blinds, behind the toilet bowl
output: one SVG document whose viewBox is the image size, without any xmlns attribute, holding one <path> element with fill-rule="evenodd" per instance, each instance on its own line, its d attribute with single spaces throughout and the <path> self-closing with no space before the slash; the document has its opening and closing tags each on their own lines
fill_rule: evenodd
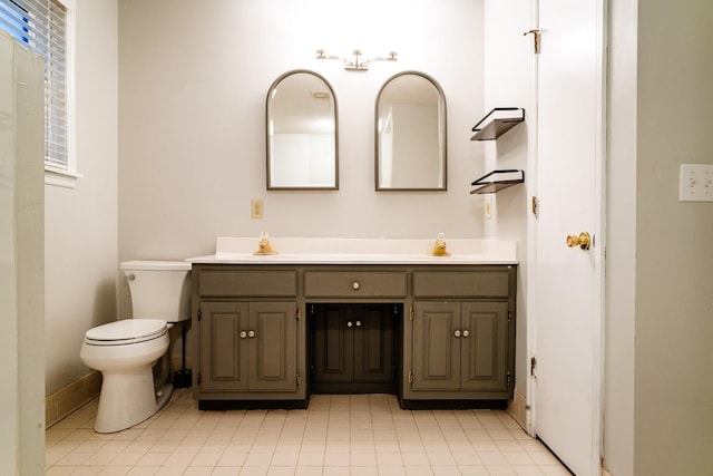
<svg viewBox="0 0 713 476">
<path fill-rule="evenodd" d="M 77 0 L 77 187 L 45 187 L 47 394 L 88 372 L 84 333 L 116 319 L 117 1 Z"/>
</svg>

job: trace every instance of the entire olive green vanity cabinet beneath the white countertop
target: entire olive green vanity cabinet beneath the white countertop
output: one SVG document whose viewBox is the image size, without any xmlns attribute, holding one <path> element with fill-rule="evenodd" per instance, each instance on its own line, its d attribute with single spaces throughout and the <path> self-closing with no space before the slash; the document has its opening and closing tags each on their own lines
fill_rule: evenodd
<svg viewBox="0 0 713 476">
<path fill-rule="evenodd" d="M 194 262 L 199 408 L 304 408 L 310 392 L 507 402 L 517 266 L 434 263 Z"/>
</svg>

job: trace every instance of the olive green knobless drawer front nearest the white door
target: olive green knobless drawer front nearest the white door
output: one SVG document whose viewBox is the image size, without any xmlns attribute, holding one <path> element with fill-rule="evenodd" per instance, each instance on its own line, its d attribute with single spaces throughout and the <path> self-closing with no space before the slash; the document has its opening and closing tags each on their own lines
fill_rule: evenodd
<svg viewBox="0 0 713 476">
<path fill-rule="evenodd" d="M 414 298 L 507 298 L 507 271 L 414 271 Z"/>
</svg>

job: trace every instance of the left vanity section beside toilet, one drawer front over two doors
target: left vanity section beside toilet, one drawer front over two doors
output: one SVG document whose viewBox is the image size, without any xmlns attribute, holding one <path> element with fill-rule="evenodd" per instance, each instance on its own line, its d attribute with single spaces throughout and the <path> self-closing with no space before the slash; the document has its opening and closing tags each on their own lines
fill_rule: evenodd
<svg viewBox="0 0 713 476">
<path fill-rule="evenodd" d="M 235 401 L 304 407 L 296 271 L 194 265 L 193 283 L 199 407 L 231 408 Z"/>
</svg>

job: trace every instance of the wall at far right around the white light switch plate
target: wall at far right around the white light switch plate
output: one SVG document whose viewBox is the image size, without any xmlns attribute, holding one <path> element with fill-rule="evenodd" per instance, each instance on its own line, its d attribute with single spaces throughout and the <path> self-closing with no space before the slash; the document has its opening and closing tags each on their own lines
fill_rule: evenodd
<svg viewBox="0 0 713 476">
<path fill-rule="evenodd" d="M 713 203 L 678 165 L 713 164 L 713 3 L 638 2 L 635 473 L 713 468 Z"/>
</svg>

